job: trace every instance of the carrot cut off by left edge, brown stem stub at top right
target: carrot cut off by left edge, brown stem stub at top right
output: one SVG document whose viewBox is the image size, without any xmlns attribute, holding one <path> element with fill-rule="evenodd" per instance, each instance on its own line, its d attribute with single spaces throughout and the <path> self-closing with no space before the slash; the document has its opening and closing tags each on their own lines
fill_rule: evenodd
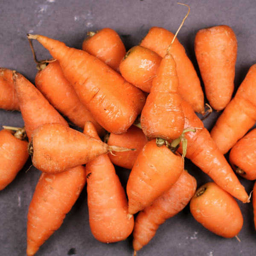
<svg viewBox="0 0 256 256">
<path fill-rule="evenodd" d="M 26 163 L 29 158 L 27 147 L 27 141 L 15 138 L 12 131 L 0 131 L 0 190 L 14 180 Z"/>
</svg>

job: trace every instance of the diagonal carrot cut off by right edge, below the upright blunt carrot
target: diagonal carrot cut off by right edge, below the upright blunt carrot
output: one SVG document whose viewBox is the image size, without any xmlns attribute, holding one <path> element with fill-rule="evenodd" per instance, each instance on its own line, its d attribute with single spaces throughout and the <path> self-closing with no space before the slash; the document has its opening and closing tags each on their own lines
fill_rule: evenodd
<svg viewBox="0 0 256 256">
<path fill-rule="evenodd" d="M 256 64 L 250 67 L 235 97 L 224 109 L 211 131 L 211 137 L 226 154 L 256 122 Z"/>
</svg>

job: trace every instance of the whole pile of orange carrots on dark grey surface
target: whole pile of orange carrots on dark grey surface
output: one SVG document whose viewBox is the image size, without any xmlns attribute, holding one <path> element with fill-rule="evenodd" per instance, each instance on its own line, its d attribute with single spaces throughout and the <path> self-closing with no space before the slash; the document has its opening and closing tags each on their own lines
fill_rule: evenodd
<svg viewBox="0 0 256 256">
<path fill-rule="evenodd" d="M 128 52 L 113 29 L 88 35 L 74 49 L 29 34 L 31 47 L 35 39 L 52 55 L 38 61 L 33 52 L 35 86 L 0 68 L 0 108 L 20 111 L 24 120 L 23 128 L 0 131 L 0 189 L 29 155 L 42 171 L 28 209 L 27 255 L 61 226 L 84 186 L 95 239 L 112 243 L 132 234 L 134 255 L 188 204 L 208 230 L 238 238 L 243 217 L 235 198 L 248 203 L 250 196 L 236 174 L 256 180 L 256 131 L 247 133 L 256 122 L 256 64 L 231 99 L 233 30 L 215 26 L 195 37 L 207 100 L 223 111 L 211 132 L 201 121 L 210 111 L 200 79 L 177 34 L 152 27 Z M 186 158 L 213 181 L 197 189 Z M 131 170 L 126 188 L 115 165 Z"/>
</svg>

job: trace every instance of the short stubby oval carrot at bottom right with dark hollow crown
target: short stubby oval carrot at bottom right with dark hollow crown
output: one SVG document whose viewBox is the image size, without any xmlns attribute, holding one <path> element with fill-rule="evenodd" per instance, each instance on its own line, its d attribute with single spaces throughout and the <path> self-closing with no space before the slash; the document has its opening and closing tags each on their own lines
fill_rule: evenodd
<svg viewBox="0 0 256 256">
<path fill-rule="evenodd" d="M 205 191 L 198 196 L 202 188 Z M 204 184 L 195 192 L 190 211 L 205 228 L 225 238 L 238 235 L 243 226 L 243 216 L 235 198 L 214 182 Z"/>
</svg>

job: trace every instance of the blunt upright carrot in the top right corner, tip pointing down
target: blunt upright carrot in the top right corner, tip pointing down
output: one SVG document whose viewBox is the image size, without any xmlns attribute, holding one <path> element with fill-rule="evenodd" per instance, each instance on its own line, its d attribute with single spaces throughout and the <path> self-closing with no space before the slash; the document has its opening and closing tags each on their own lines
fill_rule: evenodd
<svg viewBox="0 0 256 256">
<path fill-rule="evenodd" d="M 206 97 L 212 108 L 223 110 L 234 91 L 236 34 L 229 26 L 201 29 L 195 36 L 195 56 Z"/>
</svg>

